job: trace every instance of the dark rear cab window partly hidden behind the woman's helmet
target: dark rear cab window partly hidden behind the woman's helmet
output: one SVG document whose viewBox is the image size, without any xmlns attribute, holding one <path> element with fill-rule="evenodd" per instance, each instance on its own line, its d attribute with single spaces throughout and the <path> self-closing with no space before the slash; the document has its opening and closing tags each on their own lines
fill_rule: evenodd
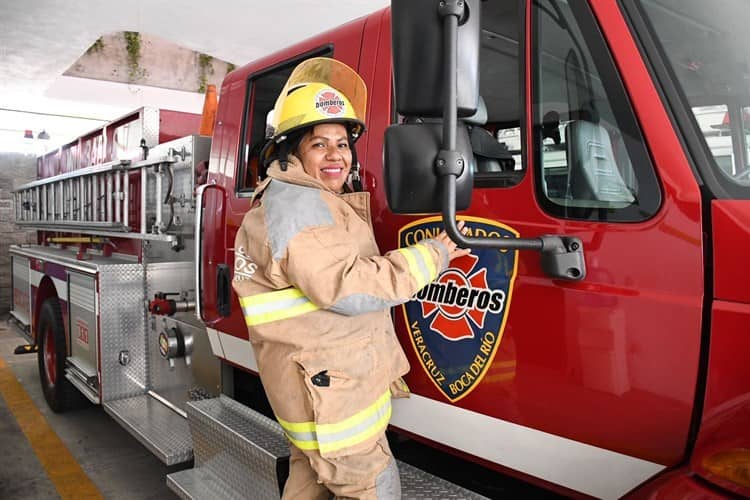
<svg viewBox="0 0 750 500">
<path fill-rule="evenodd" d="M 249 196 L 258 182 L 265 177 L 259 167 L 260 150 L 268 137 L 266 120 L 276 104 L 276 98 L 284 87 L 292 70 L 305 59 L 333 55 L 333 47 L 325 47 L 302 57 L 284 62 L 261 73 L 251 74 L 247 81 L 245 113 L 242 120 L 242 147 L 239 149 L 239 175 L 237 191 L 240 195 Z"/>
</svg>

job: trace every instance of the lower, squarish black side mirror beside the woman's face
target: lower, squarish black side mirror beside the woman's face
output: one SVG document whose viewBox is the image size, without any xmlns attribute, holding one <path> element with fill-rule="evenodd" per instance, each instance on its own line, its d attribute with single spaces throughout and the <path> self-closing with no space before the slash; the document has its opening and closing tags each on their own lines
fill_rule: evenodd
<svg viewBox="0 0 750 500">
<path fill-rule="evenodd" d="M 443 124 L 391 125 L 385 132 L 385 192 L 388 206 L 397 214 L 442 211 L 439 178 L 435 172 L 441 150 Z M 456 129 L 456 150 L 473 160 L 466 127 Z M 474 183 L 471 164 L 465 163 L 456 178 L 456 208 L 471 203 Z"/>
</svg>

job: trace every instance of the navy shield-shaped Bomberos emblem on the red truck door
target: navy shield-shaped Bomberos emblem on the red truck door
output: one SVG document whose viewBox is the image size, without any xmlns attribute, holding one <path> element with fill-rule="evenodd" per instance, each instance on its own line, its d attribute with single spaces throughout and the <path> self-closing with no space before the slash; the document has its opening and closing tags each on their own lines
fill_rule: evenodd
<svg viewBox="0 0 750 500">
<path fill-rule="evenodd" d="M 516 230 L 493 220 L 459 219 L 469 236 L 518 238 Z M 440 216 L 412 222 L 399 231 L 399 246 L 432 238 L 442 228 Z M 463 398 L 488 371 L 499 369 L 492 366 L 503 337 L 517 262 L 517 251 L 474 250 L 453 260 L 451 267 L 401 306 L 417 360 L 450 401 Z"/>
</svg>

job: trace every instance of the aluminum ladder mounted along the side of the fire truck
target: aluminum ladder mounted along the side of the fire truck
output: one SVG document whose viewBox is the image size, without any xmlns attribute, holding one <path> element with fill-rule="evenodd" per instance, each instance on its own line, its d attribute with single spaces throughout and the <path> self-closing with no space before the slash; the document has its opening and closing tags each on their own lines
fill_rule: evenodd
<svg viewBox="0 0 750 500">
<path fill-rule="evenodd" d="M 189 154 L 184 147 L 170 147 L 146 160 L 115 160 L 24 184 L 13 193 L 15 222 L 55 232 L 177 244 L 179 236 L 171 230 L 174 204 L 192 200 L 172 196 L 171 167 Z"/>
</svg>

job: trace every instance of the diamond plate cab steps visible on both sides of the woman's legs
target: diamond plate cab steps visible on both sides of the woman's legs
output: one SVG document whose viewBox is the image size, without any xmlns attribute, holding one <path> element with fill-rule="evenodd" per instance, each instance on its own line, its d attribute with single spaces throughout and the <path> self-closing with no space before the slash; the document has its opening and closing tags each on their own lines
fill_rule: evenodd
<svg viewBox="0 0 750 500">
<path fill-rule="evenodd" d="M 195 468 L 167 476 L 174 493 L 185 500 L 281 497 L 289 445 L 277 422 L 225 396 L 190 402 L 187 413 Z M 398 468 L 402 498 L 485 498 L 404 462 Z"/>
</svg>

